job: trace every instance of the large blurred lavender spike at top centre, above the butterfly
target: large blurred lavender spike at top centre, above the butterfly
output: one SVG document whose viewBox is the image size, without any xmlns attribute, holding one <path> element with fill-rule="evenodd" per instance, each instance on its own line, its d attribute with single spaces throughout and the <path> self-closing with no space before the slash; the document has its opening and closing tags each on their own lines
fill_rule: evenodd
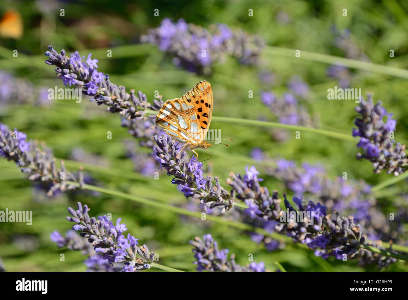
<svg viewBox="0 0 408 300">
<path fill-rule="evenodd" d="M 173 63 L 188 71 L 209 73 L 214 63 L 223 63 L 226 56 L 235 56 L 243 64 L 256 64 L 264 46 L 259 36 L 231 30 L 226 24 L 211 25 L 208 31 L 184 19 L 162 20 L 159 27 L 142 36 L 142 42 L 157 45 L 160 51 L 175 56 Z"/>
</svg>

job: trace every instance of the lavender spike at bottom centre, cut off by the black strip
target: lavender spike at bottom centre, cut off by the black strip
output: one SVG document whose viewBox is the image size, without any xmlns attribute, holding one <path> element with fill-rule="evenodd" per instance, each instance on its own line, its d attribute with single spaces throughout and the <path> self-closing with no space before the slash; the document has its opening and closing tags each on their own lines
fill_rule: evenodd
<svg viewBox="0 0 408 300">
<path fill-rule="evenodd" d="M 219 250 L 217 242 L 209 233 L 203 236 L 203 240 L 196 236 L 193 241 L 190 241 L 190 244 L 194 247 L 194 257 L 197 259 L 194 263 L 198 265 L 197 271 L 265 272 L 263 262 L 259 264 L 252 262 L 248 266 L 240 266 L 235 262 L 234 254 L 228 259 L 228 249 Z"/>
</svg>

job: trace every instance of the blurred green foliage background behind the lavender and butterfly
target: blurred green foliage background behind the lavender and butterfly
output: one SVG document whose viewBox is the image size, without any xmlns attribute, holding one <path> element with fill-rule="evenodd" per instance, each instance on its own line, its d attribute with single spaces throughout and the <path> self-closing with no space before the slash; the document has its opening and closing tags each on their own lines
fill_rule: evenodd
<svg viewBox="0 0 408 300">
<path fill-rule="evenodd" d="M 0 7 L 0 13 L 8 8 L 18 11 L 24 22 L 23 38 L 0 39 L 2 71 L 38 87 L 63 87 L 53 67 L 44 63 L 47 46 L 52 44 L 57 51 L 65 49 L 68 55 L 76 50 L 82 56 L 92 52 L 92 58 L 99 59 L 98 70 L 108 73 L 112 82 L 124 85 L 127 90 L 141 90 L 149 100 L 154 98 L 156 90 L 166 100 L 182 96 L 200 80 L 208 80 L 214 91 L 213 116 L 276 120 L 259 98 L 259 91 L 265 88 L 259 83 L 259 69 L 228 58 L 225 64 L 212 67 L 211 76 L 197 76 L 177 69 L 171 57 L 157 47 L 140 44 L 140 36 L 149 28 L 157 27 L 163 18 L 184 18 L 186 22 L 203 27 L 226 23 L 259 34 L 269 46 L 344 56 L 333 46 L 330 28 L 335 25 L 350 30 L 351 37 L 371 62 L 399 68 L 408 65 L 408 2 L 404 1 L 178 1 L 177 4 L 168 1 L 2 1 Z M 64 17 L 60 17 L 61 8 L 65 10 Z M 344 8 L 348 9 L 347 17 L 342 16 Z M 159 17 L 153 16 L 154 9 L 159 9 Z M 253 9 L 253 17 L 248 17 L 248 9 Z M 287 16 L 285 22 L 279 19 L 282 14 Z M 18 58 L 10 56 L 13 49 L 18 49 Z M 112 58 L 106 57 L 107 49 L 112 49 Z M 395 50 L 395 58 L 390 58 L 390 49 Z M 288 78 L 301 76 L 310 84 L 311 96 L 306 105 L 313 118 L 319 119 L 320 128 L 350 133 L 356 116 L 355 103 L 327 100 L 327 89 L 336 85 L 336 80 L 326 76 L 328 64 L 297 59 L 294 54 L 293 58 L 273 56 L 267 50 L 261 58 L 263 69 L 277 76 L 274 91 L 284 91 Z M 352 72 L 355 76 L 353 87 L 362 88 L 364 94 L 374 92 L 374 100 L 382 100 L 384 107 L 395 113 L 395 139 L 406 143 L 406 80 L 365 71 Z M 249 90 L 254 91 L 254 98 L 248 99 Z M 132 137 L 120 127 L 120 116 L 107 113 L 105 107 L 98 107 L 86 97 L 80 104 L 53 100 L 48 106 L 3 105 L 0 122 L 23 131 L 29 139 L 44 141 L 57 158 L 69 159 L 72 150 L 78 147 L 89 155 L 97 155 L 96 162 L 102 167 L 89 174 L 99 186 L 177 206 L 190 202 L 164 172 L 160 173 L 159 180 L 132 172 L 133 163 L 124 147 L 124 140 Z M 271 138 L 270 129 L 215 120 L 211 128 L 221 129 L 223 138 L 234 138 L 229 148 L 211 147 L 212 158 L 204 162 L 208 174 L 220 176 L 224 186 L 230 171 L 242 173 L 249 164 L 261 172 L 262 185 L 282 194 L 283 184 L 264 175 L 265 164 L 249 157 L 254 147 L 262 148 L 272 158 L 284 157 L 299 163 L 321 162 L 333 178 L 347 172 L 348 178 L 362 178 L 373 185 L 390 178 L 385 173 L 373 174 L 369 162 L 357 162 L 356 142 L 352 140 L 306 132 L 297 140 L 295 133 L 288 131 L 290 138 L 276 142 Z M 112 132 L 112 139 L 106 138 L 107 131 Z M 149 153 L 149 149 L 139 148 L 138 151 Z M 200 159 L 207 158 L 206 151 L 199 151 Z M 67 161 L 71 171 L 78 170 L 79 166 L 80 163 Z M 151 251 L 159 253 L 161 264 L 184 271 L 195 270 L 188 241 L 204 233 L 211 233 L 221 248 L 235 253 L 241 264 L 247 264 L 248 254 L 252 253 L 254 261 L 264 261 L 269 270 L 276 269 L 275 261 L 287 271 L 375 270 L 374 267 L 357 267 L 357 261 L 353 260 L 347 263 L 333 258 L 323 260 L 315 257 L 313 251 L 291 242 L 285 249 L 267 252 L 239 229 L 117 197 L 85 191 L 47 198 L 35 192 L 33 183 L 23 179 L 12 162 L 0 160 L 0 169 L 0 210 L 33 211 L 31 226 L 0 224 L 0 257 L 7 271 L 84 271 L 85 257 L 79 251 L 58 249 L 49 238 L 54 230 L 64 233 L 71 229 L 72 223 L 65 220 L 66 208 L 75 207 L 77 201 L 88 204 L 90 216 L 111 213 L 113 220 L 122 218 L 127 232 L 140 238 L 139 242 L 147 244 Z M 399 182 L 398 189 L 404 191 L 405 183 Z M 397 200 L 402 201 L 396 196 L 382 198 L 384 211 L 392 211 Z M 228 213 L 224 218 L 228 218 Z M 60 262 L 60 253 L 65 254 L 64 262 Z M 408 264 L 397 262 L 383 271 L 406 270 Z"/>
</svg>

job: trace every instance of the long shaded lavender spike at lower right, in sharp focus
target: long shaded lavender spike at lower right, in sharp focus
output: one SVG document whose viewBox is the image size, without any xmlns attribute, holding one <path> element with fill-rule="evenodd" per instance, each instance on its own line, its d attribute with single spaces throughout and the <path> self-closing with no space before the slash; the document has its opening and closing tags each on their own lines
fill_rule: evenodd
<svg viewBox="0 0 408 300">
<path fill-rule="evenodd" d="M 286 210 L 283 210 L 277 191 L 273 191 L 271 196 L 266 187 L 259 185 L 262 179 L 257 177 L 259 172 L 255 167 L 251 167 L 246 173 L 244 176 L 231 173 L 227 183 L 235 191 L 236 199 L 248 205 L 249 208 L 244 213 L 251 218 L 274 221 L 277 233 L 286 233 L 294 242 L 307 244 L 310 249 L 315 250 L 317 256 L 335 256 L 338 259 L 346 256 L 348 259 L 358 259 L 360 265 L 376 263 L 380 269 L 396 261 L 395 258 L 373 255 L 361 248 L 365 237 L 360 224 L 356 224 L 353 217 L 341 217 L 335 211 L 332 218 L 325 206 L 312 201 L 305 203 L 301 197 L 293 197 L 293 202 L 298 207 L 296 209 L 286 199 L 286 193 Z"/>
</svg>

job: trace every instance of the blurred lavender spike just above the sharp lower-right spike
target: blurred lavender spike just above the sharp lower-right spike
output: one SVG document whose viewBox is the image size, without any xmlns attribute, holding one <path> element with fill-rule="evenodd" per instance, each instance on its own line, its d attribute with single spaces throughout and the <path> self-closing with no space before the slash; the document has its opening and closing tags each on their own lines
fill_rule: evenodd
<svg viewBox="0 0 408 300">
<path fill-rule="evenodd" d="M 284 159 L 274 162 L 276 167 L 267 167 L 266 173 L 282 181 L 295 196 L 321 202 L 329 211 L 335 210 L 341 215 L 353 216 L 364 232 L 375 234 L 386 242 L 396 237 L 395 234 L 394 238 L 390 237 L 393 222 L 381 213 L 370 186 L 363 180 L 344 180 L 341 177 L 332 179 L 318 165 L 304 163 L 302 167 L 297 167 L 295 162 Z M 375 220 L 370 217 L 373 215 Z"/>
</svg>

